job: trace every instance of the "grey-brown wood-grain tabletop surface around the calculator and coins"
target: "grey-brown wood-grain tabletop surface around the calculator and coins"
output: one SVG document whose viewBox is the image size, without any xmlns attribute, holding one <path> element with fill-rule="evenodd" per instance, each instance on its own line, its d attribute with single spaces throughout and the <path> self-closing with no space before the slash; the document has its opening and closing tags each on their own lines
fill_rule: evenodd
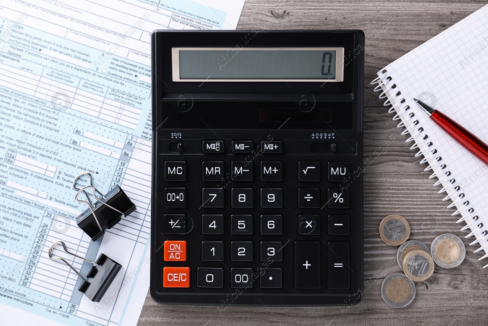
<svg viewBox="0 0 488 326">
<path fill-rule="evenodd" d="M 364 115 L 364 278 L 363 301 L 346 307 L 228 307 L 160 305 L 147 296 L 140 326 L 150 325 L 487 325 L 487 270 L 469 242 L 465 261 L 453 269 L 436 268 L 405 309 L 386 305 L 380 293 L 384 278 L 400 272 L 397 247 L 378 235 L 383 217 L 407 218 L 411 239 L 430 246 L 442 233 L 461 238 L 454 212 L 434 188 L 434 179 L 414 157 L 398 121 L 386 112 L 369 82 L 376 72 L 416 46 L 485 5 L 485 1 L 246 0 L 238 29 L 362 29 L 366 34 Z M 389 141 L 389 142 L 388 142 Z M 470 241 L 469 241 L 470 240 Z"/>
</svg>

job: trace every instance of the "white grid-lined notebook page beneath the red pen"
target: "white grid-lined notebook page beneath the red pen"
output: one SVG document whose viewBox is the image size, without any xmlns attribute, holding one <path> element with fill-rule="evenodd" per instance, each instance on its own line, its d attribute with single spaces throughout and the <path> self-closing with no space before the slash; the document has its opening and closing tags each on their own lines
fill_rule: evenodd
<svg viewBox="0 0 488 326">
<path fill-rule="evenodd" d="M 392 78 L 385 88 L 393 84 L 397 86 L 387 93 L 393 95 L 401 91 L 398 97 L 393 95 L 392 102 L 405 98 L 402 108 L 410 106 L 407 112 L 400 115 L 401 118 L 414 112 L 415 116 L 407 118 L 407 121 L 418 120 L 418 126 L 424 128 L 417 138 L 428 135 L 426 141 L 420 141 L 419 147 L 422 149 L 431 141 L 433 146 L 425 148 L 423 152 L 428 153 L 433 148 L 438 151 L 429 156 L 429 163 L 434 170 L 442 163 L 447 165 L 445 170 L 451 172 L 447 180 L 455 178 L 453 185 L 461 187 L 452 198 L 458 198 L 460 193 L 466 195 L 456 200 L 457 207 L 461 208 L 468 200 L 469 205 L 461 209 L 465 212 L 463 215 L 477 215 L 484 225 L 488 225 L 488 167 L 430 120 L 413 99 L 418 98 L 439 109 L 488 143 L 487 63 L 488 5 L 385 67 L 387 75 Z M 382 75 L 382 72 L 378 72 L 378 75 Z M 433 158 L 439 155 L 442 161 L 434 163 Z M 444 170 L 441 173 L 444 175 Z M 448 192 L 455 191 L 451 189 Z M 469 207 L 474 209 L 472 214 L 468 214 Z M 468 217 L 468 220 L 471 218 Z M 473 222 L 471 229 L 475 230 L 478 224 L 479 220 Z M 482 235 L 485 228 L 474 232 L 477 238 L 482 238 L 481 244 L 487 243 L 487 237 Z M 488 253 L 488 249 L 484 249 Z"/>
</svg>

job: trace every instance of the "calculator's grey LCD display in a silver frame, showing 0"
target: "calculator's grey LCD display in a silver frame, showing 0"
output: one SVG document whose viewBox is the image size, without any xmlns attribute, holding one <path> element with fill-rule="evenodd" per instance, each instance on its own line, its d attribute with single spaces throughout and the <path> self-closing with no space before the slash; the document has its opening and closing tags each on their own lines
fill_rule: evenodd
<svg viewBox="0 0 488 326">
<path fill-rule="evenodd" d="M 341 82 L 344 48 L 172 48 L 173 81 Z"/>
</svg>

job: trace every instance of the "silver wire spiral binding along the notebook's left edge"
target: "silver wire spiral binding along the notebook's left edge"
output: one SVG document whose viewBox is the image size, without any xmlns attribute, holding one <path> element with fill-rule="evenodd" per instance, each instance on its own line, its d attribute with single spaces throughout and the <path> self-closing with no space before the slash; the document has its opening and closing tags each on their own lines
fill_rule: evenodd
<svg viewBox="0 0 488 326">
<path fill-rule="evenodd" d="M 415 154 L 416 157 L 424 156 L 424 158 L 419 162 L 420 164 L 428 163 L 427 168 L 424 171 L 432 170 L 432 174 L 429 179 L 437 177 L 437 181 L 433 183 L 433 186 L 442 185 L 442 189 L 438 191 L 439 194 L 446 192 L 442 200 L 451 200 L 451 203 L 447 205 L 447 208 L 456 207 L 454 213 L 451 216 L 461 215 L 456 223 L 466 222 L 466 225 L 461 228 L 461 231 L 470 229 L 470 233 L 465 236 L 465 238 L 475 237 L 476 239 L 469 243 L 469 245 L 474 245 L 476 243 L 480 244 L 480 247 L 473 252 L 479 252 L 484 250 L 485 255 L 478 259 L 481 261 L 488 258 L 488 229 L 479 220 L 479 216 L 473 207 L 471 207 L 469 201 L 465 198 L 465 194 L 461 189 L 461 186 L 456 184 L 455 177 L 451 174 L 446 164 L 442 163 L 441 153 L 435 148 L 428 137 L 427 131 L 420 125 L 419 121 L 415 118 L 415 113 L 409 111 L 410 106 L 407 104 L 406 96 L 402 95 L 402 92 L 393 81 L 393 78 L 389 76 L 386 69 L 378 72 L 378 77 L 376 77 L 370 83 L 371 85 L 376 85 L 373 89 L 375 92 L 382 91 L 379 98 L 384 99 L 384 106 L 390 106 L 388 113 L 396 112 L 393 120 L 400 120 L 397 128 L 404 128 L 401 132 L 402 135 L 410 134 L 410 137 L 406 140 L 407 143 L 414 142 L 410 147 L 411 150 L 418 149 Z M 412 99 L 413 100 L 413 99 Z M 411 101 L 409 101 L 411 103 Z M 483 268 L 488 267 L 488 264 L 483 266 Z"/>
</svg>

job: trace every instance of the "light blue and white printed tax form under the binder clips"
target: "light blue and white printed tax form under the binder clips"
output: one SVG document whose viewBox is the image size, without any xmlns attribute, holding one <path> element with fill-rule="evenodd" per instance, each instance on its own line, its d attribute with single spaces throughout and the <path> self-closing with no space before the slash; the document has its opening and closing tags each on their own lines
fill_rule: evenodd
<svg viewBox="0 0 488 326">
<path fill-rule="evenodd" d="M 0 324 L 136 325 L 149 288 L 154 29 L 235 29 L 244 0 L 1 0 Z M 93 242 L 82 172 L 137 209 Z M 86 182 L 86 176 L 83 177 Z M 84 199 L 84 198 L 81 198 Z M 122 269 L 99 303 L 48 257 L 62 240 Z M 57 248 L 60 248 L 58 246 Z M 54 250 L 86 275 L 93 266 Z"/>
</svg>

